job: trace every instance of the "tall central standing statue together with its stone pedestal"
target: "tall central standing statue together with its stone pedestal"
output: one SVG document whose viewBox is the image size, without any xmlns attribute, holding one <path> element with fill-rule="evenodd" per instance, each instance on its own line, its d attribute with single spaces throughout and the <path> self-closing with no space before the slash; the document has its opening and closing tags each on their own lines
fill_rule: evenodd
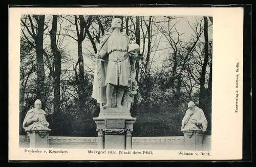
<svg viewBox="0 0 256 167">
<path fill-rule="evenodd" d="M 101 149 L 131 149 L 133 124 L 130 108 L 137 93 L 135 63 L 139 45 L 120 32 L 121 19 L 114 18 L 111 32 L 100 41 L 96 53 L 92 97 L 100 104 L 94 118 Z"/>
</svg>

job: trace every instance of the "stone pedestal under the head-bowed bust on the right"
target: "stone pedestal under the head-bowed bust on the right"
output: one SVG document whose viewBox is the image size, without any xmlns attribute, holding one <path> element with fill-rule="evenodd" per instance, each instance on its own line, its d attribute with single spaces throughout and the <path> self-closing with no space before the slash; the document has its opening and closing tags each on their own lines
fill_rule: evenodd
<svg viewBox="0 0 256 167">
<path fill-rule="evenodd" d="M 202 150 L 204 133 L 201 130 L 183 131 L 186 150 Z"/>
</svg>

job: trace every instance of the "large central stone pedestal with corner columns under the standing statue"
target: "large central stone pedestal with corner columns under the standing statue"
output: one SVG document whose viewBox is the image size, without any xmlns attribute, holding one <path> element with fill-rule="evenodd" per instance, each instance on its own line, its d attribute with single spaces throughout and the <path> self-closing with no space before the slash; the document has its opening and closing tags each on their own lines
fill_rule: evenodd
<svg viewBox="0 0 256 167">
<path fill-rule="evenodd" d="M 129 108 L 101 108 L 97 124 L 99 149 L 132 149 L 133 124 Z"/>
</svg>

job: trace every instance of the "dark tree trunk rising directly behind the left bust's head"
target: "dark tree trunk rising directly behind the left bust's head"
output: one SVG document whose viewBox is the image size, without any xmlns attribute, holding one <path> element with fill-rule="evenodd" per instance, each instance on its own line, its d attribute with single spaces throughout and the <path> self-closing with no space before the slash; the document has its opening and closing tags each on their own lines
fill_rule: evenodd
<svg viewBox="0 0 256 167">
<path fill-rule="evenodd" d="M 45 15 L 39 15 L 37 21 L 37 35 L 35 40 L 36 50 L 36 74 L 37 74 L 37 98 L 45 101 L 45 68 L 43 57 L 43 41 L 44 41 L 44 23 Z"/>
</svg>

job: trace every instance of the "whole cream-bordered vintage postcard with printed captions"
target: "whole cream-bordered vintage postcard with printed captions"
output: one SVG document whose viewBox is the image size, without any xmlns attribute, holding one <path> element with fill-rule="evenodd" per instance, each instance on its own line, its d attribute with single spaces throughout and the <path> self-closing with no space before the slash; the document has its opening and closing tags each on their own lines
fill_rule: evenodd
<svg viewBox="0 0 256 167">
<path fill-rule="evenodd" d="M 9 160 L 242 159 L 243 8 L 10 8 L 9 67 Z"/>
</svg>

